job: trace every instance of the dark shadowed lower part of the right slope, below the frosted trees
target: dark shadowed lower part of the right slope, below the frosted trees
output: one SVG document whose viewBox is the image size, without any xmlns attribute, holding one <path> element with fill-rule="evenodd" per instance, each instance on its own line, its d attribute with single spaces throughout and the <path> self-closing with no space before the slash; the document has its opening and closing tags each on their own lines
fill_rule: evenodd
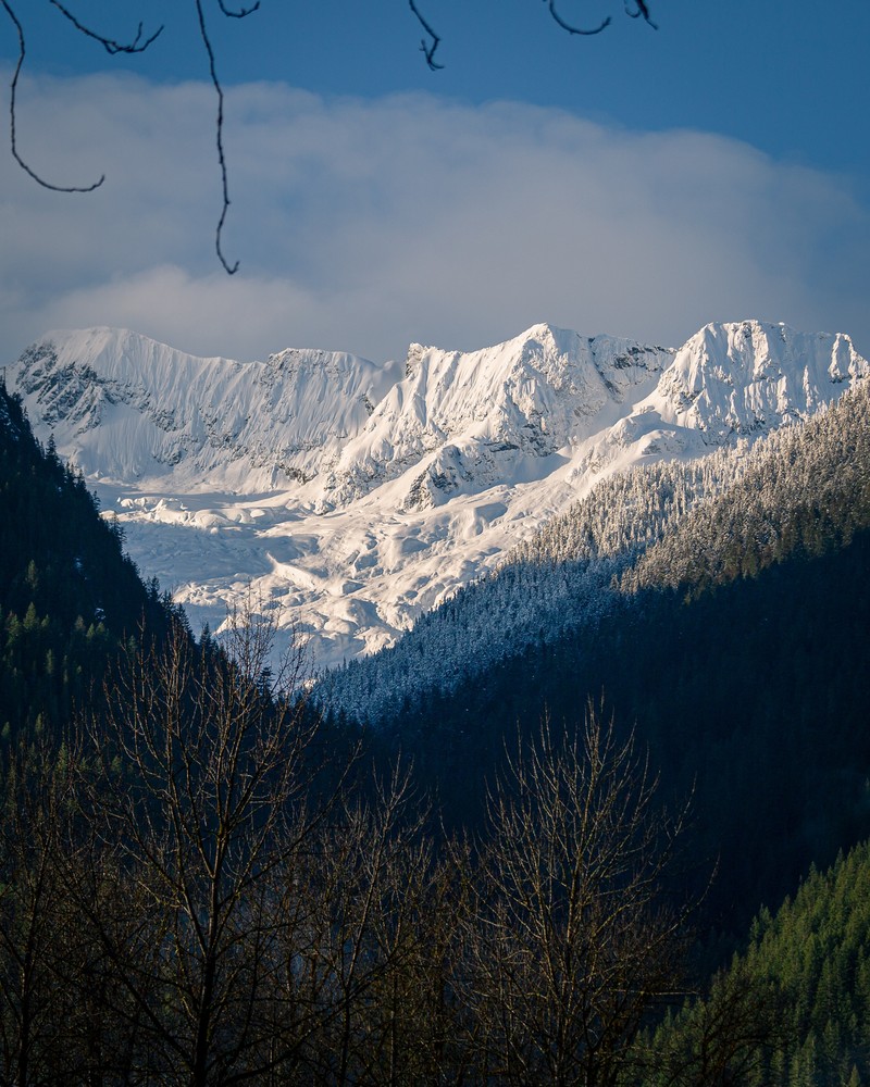
<svg viewBox="0 0 870 1087">
<path fill-rule="evenodd" d="M 870 534 L 794 559 L 686 604 L 647 592 L 595 637 L 540 646 L 397 719 L 389 734 L 447 817 L 474 822 L 505 737 L 548 712 L 575 724 L 604 694 L 636 725 L 666 794 L 694 788 L 698 879 L 735 932 L 775 903 L 812 860 L 870 832 L 867 728 Z"/>
</svg>

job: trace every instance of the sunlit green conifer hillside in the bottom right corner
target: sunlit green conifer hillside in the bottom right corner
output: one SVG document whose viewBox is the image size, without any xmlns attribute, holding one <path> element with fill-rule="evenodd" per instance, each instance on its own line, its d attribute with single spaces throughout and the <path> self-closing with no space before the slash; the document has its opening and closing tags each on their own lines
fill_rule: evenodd
<svg viewBox="0 0 870 1087">
<path fill-rule="evenodd" d="M 860 1087 L 870 1079 L 870 846 L 754 921 L 703 1000 L 649 1040 L 646 1087 Z M 743 1001 L 737 998 L 743 995 Z"/>
</svg>

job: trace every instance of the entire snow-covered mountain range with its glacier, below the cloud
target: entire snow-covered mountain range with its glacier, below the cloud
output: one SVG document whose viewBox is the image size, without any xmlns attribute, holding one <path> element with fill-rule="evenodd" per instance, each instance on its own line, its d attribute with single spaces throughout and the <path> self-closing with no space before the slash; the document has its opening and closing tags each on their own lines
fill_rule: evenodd
<svg viewBox="0 0 870 1087">
<path fill-rule="evenodd" d="M 395 640 L 598 480 L 807 417 L 868 372 L 846 336 L 743 322 L 679 351 L 536 325 L 412 345 L 403 371 L 90 329 L 44 337 L 7 382 L 195 628 L 252 591 L 322 667 Z"/>
</svg>

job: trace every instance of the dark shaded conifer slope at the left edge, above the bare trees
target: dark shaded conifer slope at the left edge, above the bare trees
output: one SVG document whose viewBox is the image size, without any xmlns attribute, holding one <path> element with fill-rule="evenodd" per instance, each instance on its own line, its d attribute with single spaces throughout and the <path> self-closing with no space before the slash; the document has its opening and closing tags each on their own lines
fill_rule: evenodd
<svg viewBox="0 0 870 1087">
<path fill-rule="evenodd" d="M 80 474 L 34 439 L 0 387 L 0 730 L 60 735 L 107 661 L 165 604 L 98 513 Z"/>
</svg>

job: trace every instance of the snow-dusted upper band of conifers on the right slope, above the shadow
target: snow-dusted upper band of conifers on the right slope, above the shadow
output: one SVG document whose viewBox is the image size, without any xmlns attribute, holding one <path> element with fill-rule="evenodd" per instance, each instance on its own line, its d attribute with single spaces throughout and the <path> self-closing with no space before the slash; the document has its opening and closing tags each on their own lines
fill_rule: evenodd
<svg viewBox="0 0 870 1087">
<path fill-rule="evenodd" d="M 617 627 L 632 627 L 638 613 L 629 599 L 638 590 L 691 596 L 795 554 L 845 547 L 870 527 L 869 468 L 862 382 L 755 442 L 614 473 L 394 646 L 326 674 L 318 696 L 382 726 L 407 710 L 417 715 L 433 697 L 486 684 L 502 662 L 545 645 L 588 649 L 617 616 Z"/>
</svg>

